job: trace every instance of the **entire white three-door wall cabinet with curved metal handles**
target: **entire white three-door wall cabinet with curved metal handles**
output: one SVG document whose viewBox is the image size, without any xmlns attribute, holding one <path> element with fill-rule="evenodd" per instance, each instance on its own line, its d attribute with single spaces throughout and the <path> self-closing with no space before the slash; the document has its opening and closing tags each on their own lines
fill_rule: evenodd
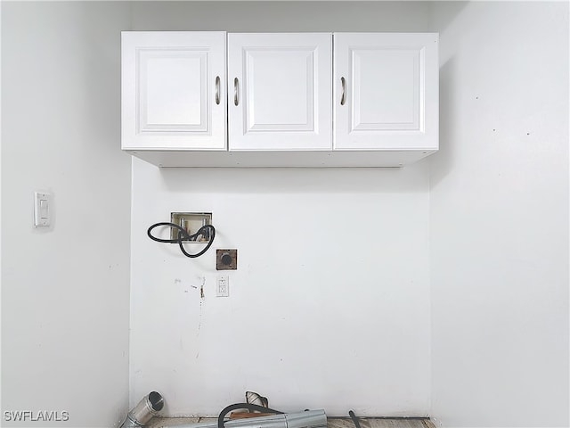
<svg viewBox="0 0 570 428">
<path fill-rule="evenodd" d="M 122 37 L 122 147 L 155 165 L 397 167 L 438 148 L 437 34 Z"/>
</svg>

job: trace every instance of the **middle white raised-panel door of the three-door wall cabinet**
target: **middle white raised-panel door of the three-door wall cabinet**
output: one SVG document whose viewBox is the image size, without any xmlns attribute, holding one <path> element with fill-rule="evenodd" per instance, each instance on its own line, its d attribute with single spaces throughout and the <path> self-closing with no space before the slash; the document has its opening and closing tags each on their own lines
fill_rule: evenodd
<svg viewBox="0 0 570 428">
<path fill-rule="evenodd" d="M 230 150 L 332 148 L 332 34 L 228 35 Z"/>
</svg>

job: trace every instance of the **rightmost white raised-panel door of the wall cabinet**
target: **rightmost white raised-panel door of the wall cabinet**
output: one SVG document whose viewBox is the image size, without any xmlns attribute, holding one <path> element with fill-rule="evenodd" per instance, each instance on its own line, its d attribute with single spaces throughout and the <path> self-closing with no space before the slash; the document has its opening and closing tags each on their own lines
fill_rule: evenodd
<svg viewBox="0 0 570 428">
<path fill-rule="evenodd" d="M 438 35 L 334 33 L 335 149 L 437 150 Z"/>
</svg>

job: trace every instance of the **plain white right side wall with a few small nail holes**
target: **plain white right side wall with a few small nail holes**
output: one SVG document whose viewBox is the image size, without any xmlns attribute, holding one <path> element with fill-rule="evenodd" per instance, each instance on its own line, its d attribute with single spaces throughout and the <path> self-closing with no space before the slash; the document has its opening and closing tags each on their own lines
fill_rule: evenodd
<svg viewBox="0 0 570 428">
<path fill-rule="evenodd" d="M 569 426 L 568 3 L 443 2 L 432 416 Z"/>
</svg>

